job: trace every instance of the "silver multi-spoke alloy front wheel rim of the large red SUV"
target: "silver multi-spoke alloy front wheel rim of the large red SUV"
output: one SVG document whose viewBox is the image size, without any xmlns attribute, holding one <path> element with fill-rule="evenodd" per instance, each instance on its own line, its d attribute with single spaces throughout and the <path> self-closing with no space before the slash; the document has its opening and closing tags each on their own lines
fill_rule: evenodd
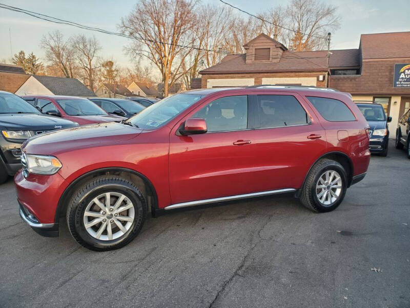
<svg viewBox="0 0 410 308">
<path fill-rule="evenodd" d="M 119 192 L 105 192 L 87 205 L 83 221 L 89 235 L 109 241 L 126 234 L 134 218 L 134 206 L 127 196 Z"/>
</svg>

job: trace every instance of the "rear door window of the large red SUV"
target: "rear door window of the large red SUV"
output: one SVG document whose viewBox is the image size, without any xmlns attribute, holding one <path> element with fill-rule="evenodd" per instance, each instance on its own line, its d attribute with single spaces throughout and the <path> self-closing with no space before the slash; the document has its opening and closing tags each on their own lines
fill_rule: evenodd
<svg viewBox="0 0 410 308">
<path fill-rule="evenodd" d="M 309 124 L 308 113 L 293 95 L 257 95 L 255 128 Z"/>
</svg>

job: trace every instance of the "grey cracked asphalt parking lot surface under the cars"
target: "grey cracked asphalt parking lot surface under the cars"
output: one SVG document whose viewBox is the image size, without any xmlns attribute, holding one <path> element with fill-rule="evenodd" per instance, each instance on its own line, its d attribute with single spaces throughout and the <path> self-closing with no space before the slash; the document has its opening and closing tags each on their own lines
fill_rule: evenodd
<svg viewBox="0 0 410 308">
<path fill-rule="evenodd" d="M 0 306 L 409 307 L 409 175 L 391 142 L 332 213 L 292 197 L 186 210 L 149 218 L 104 253 L 78 245 L 65 223 L 58 238 L 37 235 L 10 180 L 0 185 Z"/>
</svg>

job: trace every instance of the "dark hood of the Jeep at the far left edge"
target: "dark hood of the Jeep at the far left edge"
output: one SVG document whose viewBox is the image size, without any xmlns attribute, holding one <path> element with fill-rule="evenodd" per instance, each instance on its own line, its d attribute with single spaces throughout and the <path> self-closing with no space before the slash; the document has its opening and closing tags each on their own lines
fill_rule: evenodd
<svg viewBox="0 0 410 308">
<path fill-rule="evenodd" d="M 64 120 L 51 115 L 35 113 L 0 114 L 0 128 L 10 130 L 49 130 L 57 128 L 72 127 L 71 121 Z"/>
</svg>

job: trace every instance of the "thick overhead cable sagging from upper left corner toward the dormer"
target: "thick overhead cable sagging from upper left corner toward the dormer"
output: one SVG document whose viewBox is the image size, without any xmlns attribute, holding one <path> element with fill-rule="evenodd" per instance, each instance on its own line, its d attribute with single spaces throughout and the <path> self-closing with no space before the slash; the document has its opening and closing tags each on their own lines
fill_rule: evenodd
<svg viewBox="0 0 410 308">
<path fill-rule="evenodd" d="M 44 20 L 44 21 L 51 22 L 51 23 L 69 25 L 69 26 L 80 28 L 80 29 L 96 31 L 96 32 L 101 32 L 101 33 L 105 33 L 105 34 L 109 34 L 109 35 L 121 36 L 121 37 L 125 37 L 125 38 L 131 38 L 132 40 L 137 40 L 137 41 L 143 41 L 143 42 L 149 42 L 149 43 L 158 43 L 158 44 L 176 46 L 176 47 L 181 47 L 181 48 L 191 48 L 191 49 L 195 49 L 195 50 L 202 50 L 202 51 L 208 51 L 208 52 L 229 53 L 228 51 L 205 49 L 205 48 L 200 48 L 200 47 L 196 47 L 196 46 L 179 45 L 179 44 L 149 40 L 147 38 L 142 38 L 142 37 L 134 37 L 134 36 L 130 36 L 130 35 L 127 35 L 127 34 L 124 34 L 124 33 L 112 32 L 112 31 L 108 31 L 108 30 L 104 30 L 104 29 L 100 29 L 100 28 L 94 28 L 94 27 L 90 27 L 90 26 L 86 26 L 86 25 L 81 25 L 81 24 L 78 24 L 78 23 L 70 22 L 70 21 L 67 21 L 67 20 L 62 20 L 60 18 L 45 15 L 45 14 L 42 14 L 42 13 L 37 13 L 37 12 L 33 12 L 33 11 L 29 11 L 29 10 L 25 10 L 25 9 L 21 9 L 21 8 L 17 8 L 17 7 L 12 7 L 12 6 L 9 6 L 9 5 L 6 5 L 6 4 L 2 4 L 2 3 L 0 3 L 0 8 L 7 9 L 7 10 L 10 10 L 10 11 L 19 12 L 19 13 L 24 13 L 24 14 L 30 15 L 32 17 L 38 18 L 40 20 Z"/>
</svg>

